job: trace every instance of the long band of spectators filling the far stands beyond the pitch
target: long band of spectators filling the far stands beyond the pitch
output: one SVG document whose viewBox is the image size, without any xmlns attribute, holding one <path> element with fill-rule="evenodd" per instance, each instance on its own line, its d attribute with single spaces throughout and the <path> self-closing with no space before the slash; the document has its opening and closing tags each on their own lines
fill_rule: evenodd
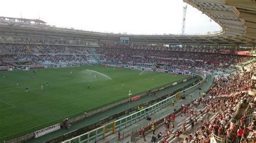
<svg viewBox="0 0 256 143">
<path fill-rule="evenodd" d="M 163 63 L 177 68 L 217 69 L 247 60 L 248 56 L 200 52 L 178 52 L 155 49 L 134 49 L 128 45 L 103 45 L 89 48 L 81 46 L 4 44 L 16 61 L 38 63 L 109 61 L 123 63 Z M 150 48 L 150 47 L 148 47 Z M 180 48 L 180 47 L 175 47 Z M 91 50 L 93 49 L 93 50 Z"/>
</svg>

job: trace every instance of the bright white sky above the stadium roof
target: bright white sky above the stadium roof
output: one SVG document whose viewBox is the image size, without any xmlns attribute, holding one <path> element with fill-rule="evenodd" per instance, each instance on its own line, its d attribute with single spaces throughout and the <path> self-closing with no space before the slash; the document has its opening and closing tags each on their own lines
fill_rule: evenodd
<svg viewBox="0 0 256 143">
<path fill-rule="evenodd" d="M 180 34 L 182 0 L 3 0 L 0 16 L 41 19 L 49 25 L 127 34 Z M 187 5 L 186 34 L 221 27 Z"/>
</svg>

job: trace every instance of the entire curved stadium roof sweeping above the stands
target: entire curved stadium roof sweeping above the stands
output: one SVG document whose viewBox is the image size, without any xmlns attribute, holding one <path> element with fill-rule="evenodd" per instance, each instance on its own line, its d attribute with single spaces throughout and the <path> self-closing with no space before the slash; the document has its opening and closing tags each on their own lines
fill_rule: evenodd
<svg viewBox="0 0 256 143">
<path fill-rule="evenodd" d="M 208 35 L 133 35 L 75 30 L 0 18 L 0 34 L 24 38 L 63 38 L 99 42 L 118 42 L 120 37 L 127 37 L 130 42 L 148 44 L 256 45 L 255 0 L 184 0 L 184 2 L 213 19 L 223 31 Z"/>
</svg>

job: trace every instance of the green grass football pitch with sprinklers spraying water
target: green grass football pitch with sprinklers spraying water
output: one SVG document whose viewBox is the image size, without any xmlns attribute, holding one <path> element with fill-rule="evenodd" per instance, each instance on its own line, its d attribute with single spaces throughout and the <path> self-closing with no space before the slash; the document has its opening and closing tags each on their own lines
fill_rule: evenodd
<svg viewBox="0 0 256 143">
<path fill-rule="evenodd" d="M 188 77 L 115 69 L 113 71 L 112 67 L 84 66 L 39 69 L 35 74 L 32 70 L 5 71 L 5 78 L 1 72 L 0 141 L 19 137 L 59 123 L 66 117 L 76 117 L 128 98 L 129 90 L 135 96 Z M 30 75 L 35 75 L 36 81 L 30 81 Z M 16 85 L 17 81 L 19 85 Z M 45 82 L 49 84 L 47 87 Z M 87 89 L 87 85 L 91 89 Z M 25 91 L 26 86 L 29 87 L 29 92 Z"/>
</svg>

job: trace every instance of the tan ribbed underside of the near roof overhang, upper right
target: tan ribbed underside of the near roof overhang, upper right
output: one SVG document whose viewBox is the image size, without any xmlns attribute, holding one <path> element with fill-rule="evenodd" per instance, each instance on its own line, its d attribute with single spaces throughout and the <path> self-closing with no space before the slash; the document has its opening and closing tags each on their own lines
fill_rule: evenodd
<svg viewBox="0 0 256 143">
<path fill-rule="evenodd" d="M 255 0 L 184 0 L 223 28 L 219 39 L 256 44 Z"/>
</svg>

